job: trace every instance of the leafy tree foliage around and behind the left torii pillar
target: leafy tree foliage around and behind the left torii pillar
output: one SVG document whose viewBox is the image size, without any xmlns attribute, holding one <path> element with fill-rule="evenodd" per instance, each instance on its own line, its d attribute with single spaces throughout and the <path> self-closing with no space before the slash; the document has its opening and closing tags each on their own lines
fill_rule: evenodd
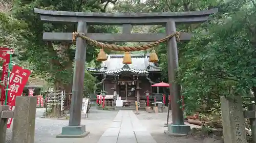
<svg viewBox="0 0 256 143">
<path fill-rule="evenodd" d="M 69 43 L 55 43 L 42 41 L 43 32 L 74 32 L 77 24 L 66 23 L 45 23 L 33 12 L 33 8 L 56 11 L 78 11 L 78 12 L 103 12 L 103 4 L 98 1 L 14 1 L 12 15 L 24 21 L 27 26 L 23 36 L 26 42 L 23 44 L 23 52 L 20 60 L 28 61 L 33 65 L 34 73 L 41 75 L 55 88 L 72 86 L 73 62 L 75 56 L 75 46 Z M 89 33 L 115 33 L 117 28 L 113 26 L 89 26 Z M 99 47 L 98 47 L 99 48 Z M 97 58 L 98 49 L 93 46 L 87 47 L 87 59 L 90 63 Z M 96 63 L 96 62 L 95 62 Z M 90 73 L 86 72 L 85 90 L 93 90 L 94 79 Z M 89 92 L 89 91 L 88 91 Z M 90 91 L 91 92 L 91 91 Z"/>
</svg>

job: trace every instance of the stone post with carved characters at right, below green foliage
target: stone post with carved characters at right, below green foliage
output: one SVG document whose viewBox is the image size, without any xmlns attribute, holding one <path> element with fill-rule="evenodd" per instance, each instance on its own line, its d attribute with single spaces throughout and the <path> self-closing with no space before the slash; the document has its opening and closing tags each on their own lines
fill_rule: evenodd
<svg viewBox="0 0 256 143">
<path fill-rule="evenodd" d="M 224 142 L 246 143 L 245 119 L 241 96 L 221 97 Z"/>
</svg>

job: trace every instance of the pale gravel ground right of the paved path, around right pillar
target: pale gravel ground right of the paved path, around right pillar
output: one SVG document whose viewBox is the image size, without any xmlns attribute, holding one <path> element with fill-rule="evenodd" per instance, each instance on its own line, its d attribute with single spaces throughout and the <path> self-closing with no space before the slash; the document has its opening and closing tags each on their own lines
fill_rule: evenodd
<svg viewBox="0 0 256 143">
<path fill-rule="evenodd" d="M 140 114 L 137 115 L 137 118 L 141 123 L 151 132 L 151 135 L 157 141 L 157 143 L 204 143 L 204 140 L 196 140 L 191 137 L 170 137 L 163 133 L 164 130 L 167 130 L 167 127 L 164 127 L 164 124 L 167 120 L 167 113 L 147 113 L 145 111 L 140 111 Z M 169 116 L 169 123 L 172 121 L 172 116 Z M 191 128 L 199 128 L 199 126 L 187 124 Z M 207 142 L 211 143 L 211 142 Z"/>
</svg>

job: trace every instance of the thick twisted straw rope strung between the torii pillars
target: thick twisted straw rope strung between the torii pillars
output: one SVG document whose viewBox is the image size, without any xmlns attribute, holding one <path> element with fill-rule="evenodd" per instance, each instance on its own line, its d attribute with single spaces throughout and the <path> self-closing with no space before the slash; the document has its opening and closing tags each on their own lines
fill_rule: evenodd
<svg viewBox="0 0 256 143">
<path fill-rule="evenodd" d="M 158 41 L 151 42 L 151 43 L 148 43 L 148 44 L 137 45 L 137 46 L 119 46 L 119 45 L 114 45 L 114 44 L 104 44 L 102 42 L 98 42 L 98 41 L 93 40 L 89 37 L 86 37 L 86 35 L 84 33 L 73 32 L 72 41 L 74 42 L 76 40 L 76 37 L 81 37 L 82 39 L 88 41 L 91 45 L 96 45 L 98 47 L 103 47 L 103 48 L 107 48 L 107 49 L 110 49 L 110 50 L 115 50 L 115 51 L 140 51 L 140 50 L 146 50 L 146 49 L 153 48 L 153 47 L 167 41 L 168 39 L 172 38 L 173 36 L 175 36 L 177 38 L 177 40 L 180 41 L 180 32 L 175 32 L 174 34 L 168 35 L 163 39 L 160 39 Z"/>
</svg>

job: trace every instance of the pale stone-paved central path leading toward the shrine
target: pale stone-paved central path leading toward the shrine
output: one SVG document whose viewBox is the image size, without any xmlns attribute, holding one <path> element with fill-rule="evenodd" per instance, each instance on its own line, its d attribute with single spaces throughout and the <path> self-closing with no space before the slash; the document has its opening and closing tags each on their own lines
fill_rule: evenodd
<svg viewBox="0 0 256 143">
<path fill-rule="evenodd" d="M 156 143 L 133 111 L 120 110 L 97 143 Z"/>
</svg>

